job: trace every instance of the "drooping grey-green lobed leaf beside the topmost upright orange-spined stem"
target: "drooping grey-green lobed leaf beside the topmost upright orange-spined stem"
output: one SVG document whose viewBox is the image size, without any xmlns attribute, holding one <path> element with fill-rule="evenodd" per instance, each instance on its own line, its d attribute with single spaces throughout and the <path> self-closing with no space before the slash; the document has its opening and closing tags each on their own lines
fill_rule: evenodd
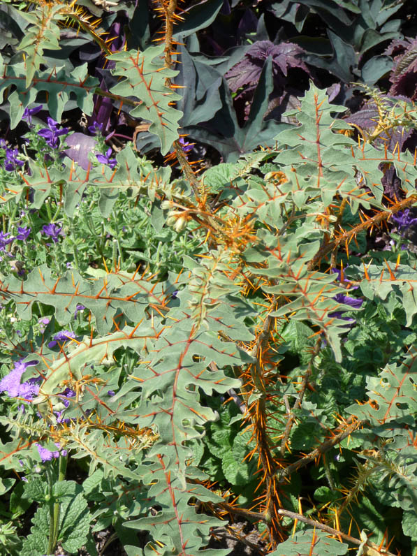
<svg viewBox="0 0 417 556">
<path fill-rule="evenodd" d="M 172 103 L 180 98 L 167 85 L 166 80 L 175 77 L 177 71 L 168 69 L 163 61 L 164 45 L 148 47 L 144 52 L 129 50 L 108 57 L 116 64 L 113 75 L 124 79 L 112 87 L 111 92 L 142 101 L 133 108 L 131 115 L 151 122 L 149 131 L 161 140 L 161 153 L 167 154 L 178 136 L 178 120 L 182 112 Z"/>
</svg>

